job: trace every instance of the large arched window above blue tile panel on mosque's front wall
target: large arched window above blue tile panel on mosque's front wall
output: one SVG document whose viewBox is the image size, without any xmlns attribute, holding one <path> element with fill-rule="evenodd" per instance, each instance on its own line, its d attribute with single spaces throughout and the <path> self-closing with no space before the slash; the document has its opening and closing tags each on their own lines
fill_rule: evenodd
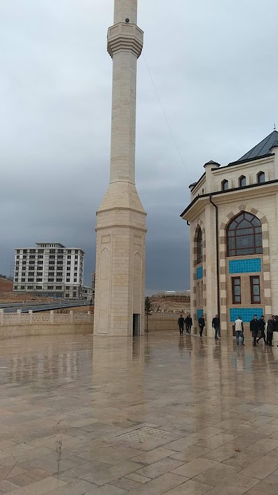
<svg viewBox="0 0 278 495">
<path fill-rule="evenodd" d="M 263 253 L 261 221 L 251 213 L 241 212 L 227 228 L 227 256 Z"/>
</svg>

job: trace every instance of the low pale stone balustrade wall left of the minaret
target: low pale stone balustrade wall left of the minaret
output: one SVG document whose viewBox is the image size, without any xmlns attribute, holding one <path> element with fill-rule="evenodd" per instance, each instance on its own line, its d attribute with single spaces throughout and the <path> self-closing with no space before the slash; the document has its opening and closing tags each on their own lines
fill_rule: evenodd
<svg viewBox="0 0 278 495">
<path fill-rule="evenodd" d="M 70 311 L 67 314 L 54 313 L 22 313 L 20 309 L 17 313 L 4 313 L 3 309 L 0 309 L 0 326 L 10 327 L 14 325 L 34 325 L 34 324 L 84 324 L 92 323 L 93 315 L 90 311 L 87 313 L 75 313 Z"/>
</svg>

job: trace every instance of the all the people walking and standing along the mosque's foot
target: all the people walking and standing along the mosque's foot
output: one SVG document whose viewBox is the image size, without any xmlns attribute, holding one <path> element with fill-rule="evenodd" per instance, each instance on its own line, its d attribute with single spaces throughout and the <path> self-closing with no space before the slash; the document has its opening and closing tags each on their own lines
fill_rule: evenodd
<svg viewBox="0 0 278 495">
<path fill-rule="evenodd" d="M 270 347 L 274 347 L 272 345 L 273 332 L 278 331 L 278 315 L 272 315 L 272 317 L 268 320 L 268 324 L 266 327 L 266 337 L 265 337 L 265 317 L 261 315 L 261 318 L 258 320 L 258 316 L 254 315 L 254 318 L 250 322 L 250 332 L 253 337 L 253 345 L 254 347 L 259 344 L 261 338 L 263 338 L 263 342 L 265 345 L 269 345 Z M 192 317 L 190 315 L 183 318 L 181 314 L 178 320 L 179 326 L 179 334 L 183 335 L 184 326 L 186 326 L 186 333 L 191 333 L 191 327 L 193 325 Z M 204 320 L 204 315 L 199 317 L 198 327 L 199 327 L 199 336 L 202 337 L 204 327 L 206 326 L 206 322 Z M 214 338 L 218 340 L 220 336 L 220 318 L 219 315 L 215 315 L 212 321 L 212 327 L 215 331 Z M 235 331 L 236 331 L 236 345 L 239 345 L 239 339 L 241 339 L 241 345 L 244 344 L 244 327 L 243 320 L 240 316 L 235 321 Z M 278 345 L 277 345 L 278 347 Z"/>
</svg>

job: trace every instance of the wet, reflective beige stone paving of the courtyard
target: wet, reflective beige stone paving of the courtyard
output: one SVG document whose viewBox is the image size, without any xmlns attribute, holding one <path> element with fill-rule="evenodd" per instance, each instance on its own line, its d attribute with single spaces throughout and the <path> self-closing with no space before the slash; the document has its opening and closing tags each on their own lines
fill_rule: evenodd
<svg viewBox="0 0 278 495">
<path fill-rule="evenodd" d="M 0 343 L 0 495 L 277 495 L 278 348 Z"/>
</svg>

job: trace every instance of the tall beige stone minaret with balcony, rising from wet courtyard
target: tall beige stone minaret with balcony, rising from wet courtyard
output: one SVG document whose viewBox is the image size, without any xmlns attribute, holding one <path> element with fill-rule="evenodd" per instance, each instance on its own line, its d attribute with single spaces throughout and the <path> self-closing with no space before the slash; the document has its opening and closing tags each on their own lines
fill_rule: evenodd
<svg viewBox="0 0 278 495">
<path fill-rule="evenodd" d="M 114 1 L 110 182 L 97 211 L 94 335 L 144 333 L 146 213 L 135 186 L 137 0 Z"/>
</svg>

